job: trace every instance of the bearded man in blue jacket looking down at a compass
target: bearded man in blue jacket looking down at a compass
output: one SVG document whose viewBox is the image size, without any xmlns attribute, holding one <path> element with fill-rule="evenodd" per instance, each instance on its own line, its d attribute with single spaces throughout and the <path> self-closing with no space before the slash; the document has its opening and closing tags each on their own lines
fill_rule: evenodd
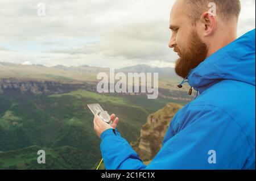
<svg viewBox="0 0 256 181">
<path fill-rule="evenodd" d="M 147 166 L 115 129 L 115 115 L 112 127 L 96 116 L 106 169 L 255 169 L 255 30 L 236 40 L 240 9 L 238 0 L 175 2 L 175 71 L 199 96 L 176 113 Z"/>
</svg>

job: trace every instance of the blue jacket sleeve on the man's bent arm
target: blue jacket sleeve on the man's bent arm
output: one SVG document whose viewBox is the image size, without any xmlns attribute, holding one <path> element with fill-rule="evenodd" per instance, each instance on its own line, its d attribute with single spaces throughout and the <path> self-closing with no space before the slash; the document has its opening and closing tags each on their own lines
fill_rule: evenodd
<svg viewBox="0 0 256 181">
<path fill-rule="evenodd" d="M 174 134 L 148 166 L 119 134 L 115 136 L 112 129 L 102 133 L 106 169 L 242 169 L 250 146 L 228 113 L 217 107 L 194 106 L 172 121 Z"/>
</svg>

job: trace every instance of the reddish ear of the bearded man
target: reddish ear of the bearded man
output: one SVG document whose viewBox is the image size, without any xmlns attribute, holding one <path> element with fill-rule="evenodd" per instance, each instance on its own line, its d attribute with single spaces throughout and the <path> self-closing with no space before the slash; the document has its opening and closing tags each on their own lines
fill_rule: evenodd
<svg viewBox="0 0 256 181">
<path fill-rule="evenodd" d="M 203 36 L 210 36 L 216 28 L 216 16 L 211 12 L 204 12 L 201 15 L 200 22 L 202 24 L 201 31 Z"/>
</svg>

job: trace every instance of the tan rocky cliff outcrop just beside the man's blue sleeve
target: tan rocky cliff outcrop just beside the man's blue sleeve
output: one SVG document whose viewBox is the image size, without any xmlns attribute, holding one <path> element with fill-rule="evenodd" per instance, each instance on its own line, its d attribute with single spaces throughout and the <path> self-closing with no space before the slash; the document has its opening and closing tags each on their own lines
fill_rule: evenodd
<svg viewBox="0 0 256 181">
<path fill-rule="evenodd" d="M 179 104 L 168 103 L 162 110 L 147 117 L 147 123 L 141 129 L 141 136 L 137 142 L 131 144 L 143 161 L 151 160 L 158 153 L 172 118 L 181 108 Z"/>
</svg>

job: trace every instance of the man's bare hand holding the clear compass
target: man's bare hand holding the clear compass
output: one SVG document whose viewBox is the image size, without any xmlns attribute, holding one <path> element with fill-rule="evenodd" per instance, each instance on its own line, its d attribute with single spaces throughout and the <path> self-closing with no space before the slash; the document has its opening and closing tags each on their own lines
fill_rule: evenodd
<svg viewBox="0 0 256 181">
<path fill-rule="evenodd" d="M 112 114 L 110 116 L 110 119 L 113 121 L 112 125 L 105 123 L 105 121 L 103 121 L 100 116 L 98 116 L 97 114 L 94 116 L 94 120 L 93 120 L 93 124 L 94 124 L 94 131 L 96 132 L 96 134 L 98 135 L 98 137 L 101 136 L 101 133 L 103 133 L 104 131 L 106 131 L 107 129 L 115 129 L 117 127 L 117 123 L 118 123 L 118 117 L 115 117 L 114 114 Z"/>
</svg>

